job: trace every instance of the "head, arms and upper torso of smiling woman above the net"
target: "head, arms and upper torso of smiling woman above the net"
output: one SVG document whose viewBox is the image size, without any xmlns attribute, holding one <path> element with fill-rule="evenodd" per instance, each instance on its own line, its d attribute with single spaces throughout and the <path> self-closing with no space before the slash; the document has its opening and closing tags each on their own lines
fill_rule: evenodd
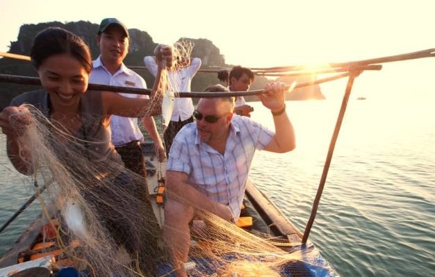
<svg viewBox="0 0 435 277">
<path fill-rule="evenodd" d="M 156 51 L 161 53 L 158 55 L 161 59 L 172 55 L 169 46 L 160 45 Z M 92 69 L 89 48 L 80 37 L 62 28 L 47 28 L 35 37 L 31 60 L 44 89 L 17 96 L 10 103 L 11 107 L 6 107 L 0 114 L 0 127 L 8 136 L 8 156 L 15 168 L 24 174 L 31 173 L 25 157 L 18 155 L 19 130 L 10 123 L 10 118 L 22 114 L 19 105 L 24 103 L 40 109 L 56 127 L 61 127 L 67 134 L 101 142 L 92 149 L 95 157 L 122 163 L 110 143 L 110 116 L 144 116 L 145 112 L 150 111 L 150 100 L 124 98 L 107 91 L 87 91 Z M 100 120 L 95 120 L 96 114 Z M 92 124 L 87 122 L 90 115 Z"/>
</svg>

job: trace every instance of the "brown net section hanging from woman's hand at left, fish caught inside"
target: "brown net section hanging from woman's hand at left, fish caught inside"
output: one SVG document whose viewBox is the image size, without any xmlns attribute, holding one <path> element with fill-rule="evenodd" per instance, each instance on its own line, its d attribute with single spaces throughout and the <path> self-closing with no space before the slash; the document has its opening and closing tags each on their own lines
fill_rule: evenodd
<svg viewBox="0 0 435 277">
<path fill-rule="evenodd" d="M 58 247 L 94 276 L 152 273 L 150 265 L 161 262 L 163 247 L 158 228 L 150 228 L 156 218 L 145 192 L 136 186 L 143 176 L 96 157 L 90 148 L 98 143 L 69 136 L 38 109 L 27 108 L 23 112 L 31 115 L 32 123 L 20 139 L 19 154 L 28 173 L 46 184 L 47 198 L 40 197 L 40 202 Z M 59 224 L 52 222 L 49 211 L 60 217 Z"/>
</svg>

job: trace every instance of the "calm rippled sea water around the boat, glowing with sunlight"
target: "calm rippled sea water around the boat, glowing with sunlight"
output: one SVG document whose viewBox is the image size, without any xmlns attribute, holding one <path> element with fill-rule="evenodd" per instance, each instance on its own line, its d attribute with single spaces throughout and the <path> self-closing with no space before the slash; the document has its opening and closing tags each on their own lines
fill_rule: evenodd
<svg viewBox="0 0 435 277">
<path fill-rule="evenodd" d="M 435 97 L 350 100 L 311 240 L 343 276 L 434 276 Z M 303 231 L 340 100 L 288 102 L 297 149 L 258 152 L 252 180 Z M 254 120 L 273 127 L 254 104 Z M 0 136 L 0 224 L 33 193 L 8 164 Z M 22 183 L 27 184 L 23 186 Z M 38 213 L 0 234 L 0 255 Z"/>
</svg>

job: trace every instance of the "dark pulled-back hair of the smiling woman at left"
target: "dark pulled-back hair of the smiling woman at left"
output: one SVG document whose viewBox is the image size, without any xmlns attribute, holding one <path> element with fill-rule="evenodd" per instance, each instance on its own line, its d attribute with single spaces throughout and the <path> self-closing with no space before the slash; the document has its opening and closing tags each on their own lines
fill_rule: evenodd
<svg viewBox="0 0 435 277">
<path fill-rule="evenodd" d="M 31 49 L 31 60 L 36 70 L 52 55 L 67 53 L 76 58 L 87 73 L 92 70 L 92 59 L 88 46 L 78 35 L 58 27 L 50 27 L 36 35 Z"/>
</svg>

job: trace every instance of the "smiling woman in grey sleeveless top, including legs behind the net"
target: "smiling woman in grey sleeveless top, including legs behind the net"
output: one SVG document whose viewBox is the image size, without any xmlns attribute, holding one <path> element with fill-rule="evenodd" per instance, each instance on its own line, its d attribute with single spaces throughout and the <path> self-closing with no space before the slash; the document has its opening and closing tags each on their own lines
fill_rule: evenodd
<svg viewBox="0 0 435 277">
<path fill-rule="evenodd" d="M 160 61 L 165 60 L 168 64 L 172 62 L 172 50 L 169 46 L 159 45 L 155 54 Z M 123 169 L 113 170 L 123 168 L 123 163 L 110 143 L 110 116 L 151 116 L 158 112 L 161 104 L 153 103 L 156 104 L 154 106 L 158 106 L 154 109 L 151 107 L 154 99 L 152 97 L 151 100 L 124 98 L 108 91 L 88 91 L 88 78 L 92 69 L 89 48 L 80 37 L 62 28 L 47 28 L 35 37 L 31 60 L 38 71 L 43 89 L 15 97 L 10 107 L 6 107 L 0 113 L 0 127 L 7 136 L 8 157 L 13 166 L 26 175 L 35 172 L 35 165 L 31 162 L 31 152 L 34 150 L 26 149 L 29 146 L 23 139 L 26 125 L 34 122 L 28 111 L 35 107 L 48 118 L 46 122 L 49 124 L 45 124 L 49 126 L 48 129 L 56 133 L 47 134 L 47 140 L 56 143 L 56 149 L 51 148 L 57 153 L 56 159 L 65 170 L 68 170 L 68 175 L 87 181 L 80 185 L 79 193 L 83 195 L 85 202 L 95 209 L 101 225 L 112 237 L 109 240 L 115 245 L 123 244 L 132 256 L 135 254 L 134 257 L 139 257 L 139 262 L 154 258 L 154 254 L 148 257 L 146 254 L 142 255 L 144 249 L 156 247 L 143 242 L 147 238 L 142 236 L 143 231 L 136 228 L 144 223 L 142 219 L 133 215 L 136 211 L 143 211 L 134 207 L 141 205 L 138 204 L 140 202 L 125 203 L 122 208 L 116 206 L 125 201 L 121 199 L 122 192 L 131 191 L 130 194 L 133 195 L 136 193 L 129 179 L 132 176 L 131 172 L 125 173 Z M 159 63 L 159 72 L 164 66 L 163 62 Z M 157 85 L 158 78 L 154 84 L 154 91 Z M 78 156 L 85 157 L 84 164 L 74 163 L 79 161 L 76 159 Z M 95 166 L 97 164 L 100 166 Z M 111 166 L 101 166 L 104 164 Z M 97 168 L 99 171 L 89 171 L 89 168 Z M 90 172 L 95 174 L 92 175 Z M 108 185 L 101 186 L 101 180 L 106 180 Z M 123 188 L 119 195 L 114 193 L 118 188 Z M 149 203 L 145 205 L 149 206 Z M 149 207 L 147 211 L 152 214 Z M 151 215 L 148 216 L 150 217 Z M 141 220 L 142 223 L 137 222 Z M 151 224 L 155 225 L 155 222 Z M 145 229 L 152 229 L 149 221 L 145 222 L 145 225 Z M 138 245 L 137 242 L 140 240 L 141 245 L 147 247 Z"/>
</svg>

